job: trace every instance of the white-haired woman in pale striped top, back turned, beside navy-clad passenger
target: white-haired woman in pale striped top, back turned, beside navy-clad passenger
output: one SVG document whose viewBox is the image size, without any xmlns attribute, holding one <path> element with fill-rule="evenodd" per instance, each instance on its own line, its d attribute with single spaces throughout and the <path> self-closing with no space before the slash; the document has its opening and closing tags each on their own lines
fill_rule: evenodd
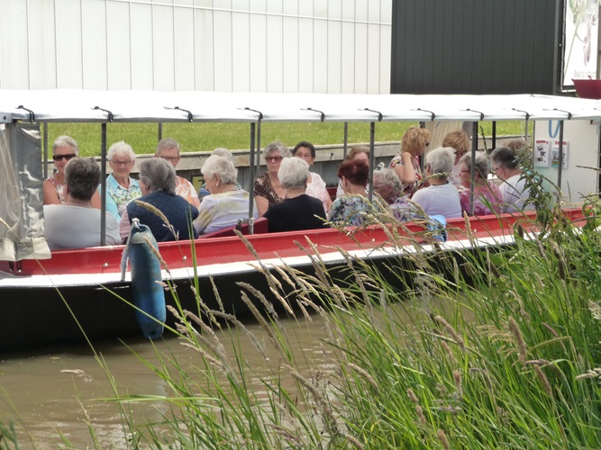
<svg viewBox="0 0 601 450">
<path fill-rule="evenodd" d="M 250 195 L 236 187 L 238 169 L 229 158 L 208 157 L 201 171 L 210 194 L 200 203 L 198 217 L 194 221 L 198 234 L 232 227 L 238 220 L 249 217 Z M 253 217 L 258 217 L 256 208 Z"/>
</svg>

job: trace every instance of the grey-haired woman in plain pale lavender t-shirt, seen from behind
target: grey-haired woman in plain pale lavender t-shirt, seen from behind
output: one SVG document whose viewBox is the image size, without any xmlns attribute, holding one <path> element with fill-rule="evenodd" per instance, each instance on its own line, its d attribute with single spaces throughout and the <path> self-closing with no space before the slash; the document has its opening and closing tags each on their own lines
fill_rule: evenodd
<svg viewBox="0 0 601 450">
<path fill-rule="evenodd" d="M 449 183 L 449 175 L 455 161 L 452 148 L 434 148 L 425 156 L 425 175 L 430 186 L 414 193 L 413 201 L 432 216 L 440 214 L 446 220 L 461 217 L 460 193 Z"/>
</svg>

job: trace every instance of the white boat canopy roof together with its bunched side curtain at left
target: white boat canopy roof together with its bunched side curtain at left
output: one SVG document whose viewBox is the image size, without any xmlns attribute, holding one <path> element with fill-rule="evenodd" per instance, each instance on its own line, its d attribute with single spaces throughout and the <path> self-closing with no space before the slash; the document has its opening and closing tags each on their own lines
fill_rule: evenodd
<svg viewBox="0 0 601 450">
<path fill-rule="evenodd" d="M 0 184 L 0 260 L 50 257 L 41 220 L 39 123 L 524 120 L 601 120 L 601 101 L 536 94 L 0 90 L 0 179 L 6 180 Z"/>
</svg>

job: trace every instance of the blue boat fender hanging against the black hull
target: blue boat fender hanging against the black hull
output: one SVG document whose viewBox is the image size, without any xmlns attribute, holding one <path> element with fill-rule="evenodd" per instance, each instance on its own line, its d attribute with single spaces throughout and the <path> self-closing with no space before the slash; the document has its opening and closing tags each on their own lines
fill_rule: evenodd
<svg viewBox="0 0 601 450">
<path fill-rule="evenodd" d="M 150 246 L 154 247 L 154 251 Z M 136 320 L 144 336 L 150 339 L 162 336 L 167 318 L 158 253 L 159 246 L 150 229 L 133 219 L 130 238 L 123 253 L 122 271 L 129 257 L 133 304 L 141 310 L 136 311 Z"/>
</svg>

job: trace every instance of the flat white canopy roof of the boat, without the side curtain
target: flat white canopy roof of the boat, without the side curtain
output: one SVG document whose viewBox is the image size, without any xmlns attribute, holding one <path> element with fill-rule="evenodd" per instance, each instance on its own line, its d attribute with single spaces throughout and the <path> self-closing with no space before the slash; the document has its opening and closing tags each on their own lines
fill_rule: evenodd
<svg viewBox="0 0 601 450">
<path fill-rule="evenodd" d="M 261 115 L 261 116 L 260 116 Z M 601 119 L 575 97 L 0 90 L 0 122 L 520 121 Z"/>
</svg>

